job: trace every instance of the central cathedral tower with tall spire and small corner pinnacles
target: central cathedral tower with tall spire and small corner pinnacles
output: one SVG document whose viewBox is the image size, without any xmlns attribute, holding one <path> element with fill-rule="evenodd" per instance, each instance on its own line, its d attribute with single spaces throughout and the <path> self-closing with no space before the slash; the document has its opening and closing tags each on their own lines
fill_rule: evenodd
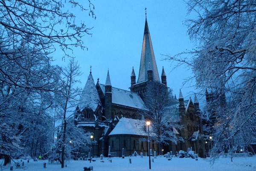
<svg viewBox="0 0 256 171">
<path fill-rule="evenodd" d="M 167 91 L 166 75 L 162 78 L 164 79 L 164 81 L 162 81 L 162 83 L 160 82 L 160 77 L 157 70 L 157 63 L 154 57 L 153 46 L 149 34 L 147 17 L 145 20 L 143 44 L 140 58 L 140 70 L 137 83 L 133 80 L 135 78 L 136 77 L 134 74 L 134 70 L 132 70 L 130 89 L 132 92 L 140 94 L 140 97 L 142 97 L 142 99 L 144 99 L 145 97 L 148 83 L 151 82 L 163 85 L 163 88 Z"/>
</svg>

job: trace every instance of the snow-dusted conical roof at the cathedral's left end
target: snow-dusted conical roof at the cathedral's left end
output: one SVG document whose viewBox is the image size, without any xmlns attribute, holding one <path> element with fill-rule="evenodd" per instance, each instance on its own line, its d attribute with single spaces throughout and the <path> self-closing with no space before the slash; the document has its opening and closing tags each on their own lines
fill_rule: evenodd
<svg viewBox="0 0 256 171">
<path fill-rule="evenodd" d="M 93 111 L 95 111 L 98 106 L 102 106 L 91 72 L 80 96 L 78 106 L 80 110 L 91 108 Z"/>
</svg>

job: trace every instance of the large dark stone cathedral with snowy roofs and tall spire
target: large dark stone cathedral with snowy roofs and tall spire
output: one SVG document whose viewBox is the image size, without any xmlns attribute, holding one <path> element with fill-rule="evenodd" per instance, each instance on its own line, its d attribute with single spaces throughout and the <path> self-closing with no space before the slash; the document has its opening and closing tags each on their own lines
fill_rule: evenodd
<svg viewBox="0 0 256 171">
<path fill-rule="evenodd" d="M 147 117 L 153 111 L 147 101 L 147 94 L 154 91 L 152 85 L 157 85 L 164 96 L 168 96 L 166 73 L 163 68 L 160 79 L 146 18 L 139 75 L 136 82 L 132 68 L 130 91 L 112 87 L 109 71 L 105 84 L 98 79 L 96 85 L 90 71 L 82 91 L 74 119 L 78 127 L 93 134 L 93 156 L 108 156 L 110 152 L 117 157 L 131 156 L 135 151 L 144 156 L 148 153 L 147 128 L 150 127 L 147 127 L 146 121 L 153 122 Z M 153 93 L 151 97 L 154 97 Z M 172 127 L 171 130 L 177 137 L 182 137 L 182 141 L 161 144 L 151 138 L 149 148 L 152 154 L 155 152 L 161 155 L 170 151 L 175 154 L 192 148 L 199 157 L 205 157 L 201 110 L 197 97 L 193 102 L 191 98 L 184 100 L 180 91 L 178 99 L 175 96 L 165 108 L 177 118 L 181 127 Z"/>
</svg>

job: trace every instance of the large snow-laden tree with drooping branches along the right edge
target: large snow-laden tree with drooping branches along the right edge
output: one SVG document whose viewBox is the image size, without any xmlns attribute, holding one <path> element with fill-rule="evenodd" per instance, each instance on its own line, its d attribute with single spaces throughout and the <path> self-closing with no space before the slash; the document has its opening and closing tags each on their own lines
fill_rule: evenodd
<svg viewBox="0 0 256 171">
<path fill-rule="evenodd" d="M 190 67 L 196 87 L 215 94 L 211 103 L 226 101 L 214 108 L 218 157 L 238 135 L 245 146 L 256 142 L 256 0 L 188 0 L 187 6 L 197 15 L 186 20 L 197 48 L 166 59 Z"/>
</svg>

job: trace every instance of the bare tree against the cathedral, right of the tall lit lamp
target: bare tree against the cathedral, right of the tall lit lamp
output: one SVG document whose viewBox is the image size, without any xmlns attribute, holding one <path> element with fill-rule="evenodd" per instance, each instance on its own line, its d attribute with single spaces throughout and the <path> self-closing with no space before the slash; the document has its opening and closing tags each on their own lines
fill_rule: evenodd
<svg viewBox="0 0 256 171">
<path fill-rule="evenodd" d="M 152 81 L 147 85 L 144 98 L 149 111 L 145 113 L 145 118 L 151 121 L 153 128 L 151 137 L 158 143 L 158 154 L 160 154 L 163 144 L 170 142 L 177 144 L 182 140 L 173 131 L 173 128 L 180 128 L 180 125 L 177 124 L 179 114 L 172 112 L 169 108 L 170 99 L 172 99 L 169 92 L 166 85 Z"/>
</svg>

